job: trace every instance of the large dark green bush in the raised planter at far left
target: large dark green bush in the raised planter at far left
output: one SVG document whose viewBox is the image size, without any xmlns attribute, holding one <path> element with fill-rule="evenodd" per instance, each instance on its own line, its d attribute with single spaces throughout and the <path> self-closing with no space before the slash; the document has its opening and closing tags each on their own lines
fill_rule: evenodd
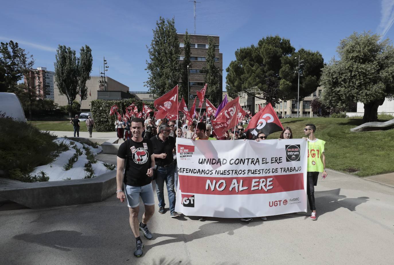
<svg viewBox="0 0 394 265">
<path fill-rule="evenodd" d="M 46 165 L 58 156 L 60 147 L 54 139 L 55 135 L 40 132 L 27 122 L 0 118 L 0 170 L 6 178 L 29 180 L 32 177 L 28 174 L 35 167 Z"/>
</svg>

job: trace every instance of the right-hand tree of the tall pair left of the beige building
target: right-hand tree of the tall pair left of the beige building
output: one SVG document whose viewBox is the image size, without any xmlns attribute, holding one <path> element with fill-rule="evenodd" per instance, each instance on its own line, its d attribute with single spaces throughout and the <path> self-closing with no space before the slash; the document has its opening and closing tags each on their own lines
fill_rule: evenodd
<svg viewBox="0 0 394 265">
<path fill-rule="evenodd" d="M 90 80 L 90 73 L 92 71 L 93 57 L 92 50 L 89 46 L 85 45 L 81 47 L 78 63 L 78 91 L 82 100 L 87 99 L 87 87 L 86 81 Z"/>
</svg>

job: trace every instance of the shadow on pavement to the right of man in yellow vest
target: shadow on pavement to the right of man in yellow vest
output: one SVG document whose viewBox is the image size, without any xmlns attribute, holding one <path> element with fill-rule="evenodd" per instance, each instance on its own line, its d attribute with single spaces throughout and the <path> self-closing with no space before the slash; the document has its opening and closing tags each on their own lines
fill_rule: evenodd
<svg viewBox="0 0 394 265">
<path fill-rule="evenodd" d="M 357 206 L 368 202 L 369 197 L 347 198 L 345 195 L 339 195 L 340 190 L 341 189 L 315 191 L 315 201 L 318 204 L 316 211 L 319 216 L 335 211 L 339 208 L 346 208 L 349 211 L 355 211 Z"/>
</svg>

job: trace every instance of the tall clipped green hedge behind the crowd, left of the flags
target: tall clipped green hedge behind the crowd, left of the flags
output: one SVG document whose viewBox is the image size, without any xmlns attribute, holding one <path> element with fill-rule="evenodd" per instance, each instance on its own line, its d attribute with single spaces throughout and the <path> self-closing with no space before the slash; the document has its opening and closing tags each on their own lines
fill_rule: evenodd
<svg viewBox="0 0 394 265">
<path fill-rule="evenodd" d="M 126 107 L 134 103 L 138 107 L 138 111 L 142 111 L 142 103 L 154 109 L 153 102 L 143 102 L 136 100 L 135 98 L 126 100 L 93 100 L 91 102 L 91 112 L 93 120 L 95 120 L 95 130 L 97 132 L 113 132 L 115 131 L 115 119 L 116 114 L 110 116 L 111 106 L 117 105 L 119 107 L 118 112 L 120 115 L 125 113 Z M 152 115 L 152 113 L 151 113 Z"/>
</svg>

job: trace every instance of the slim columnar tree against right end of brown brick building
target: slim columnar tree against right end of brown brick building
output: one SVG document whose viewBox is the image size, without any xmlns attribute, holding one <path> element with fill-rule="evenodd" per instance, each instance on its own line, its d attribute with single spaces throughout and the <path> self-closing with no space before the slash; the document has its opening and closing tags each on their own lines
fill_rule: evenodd
<svg viewBox="0 0 394 265">
<path fill-rule="evenodd" d="M 215 65 L 215 41 L 212 37 L 208 36 L 208 50 L 206 51 L 206 66 L 204 67 L 205 76 L 204 81 L 207 84 L 206 97 L 208 100 L 218 106 L 221 100 L 220 91 L 220 71 Z"/>
</svg>

